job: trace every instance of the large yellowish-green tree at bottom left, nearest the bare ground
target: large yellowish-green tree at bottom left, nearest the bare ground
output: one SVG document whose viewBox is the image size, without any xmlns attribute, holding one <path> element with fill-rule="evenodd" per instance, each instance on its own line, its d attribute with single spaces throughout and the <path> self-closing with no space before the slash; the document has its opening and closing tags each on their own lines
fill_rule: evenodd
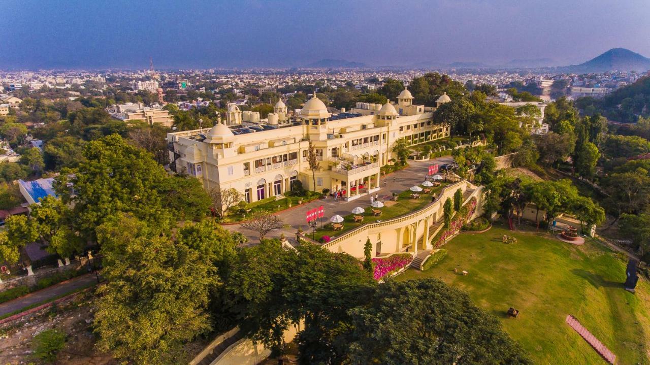
<svg viewBox="0 0 650 365">
<path fill-rule="evenodd" d="M 200 252 L 118 214 L 98 227 L 107 283 L 99 287 L 97 346 L 135 364 L 178 364 L 181 346 L 209 331 L 208 292 L 218 285 Z"/>
</svg>

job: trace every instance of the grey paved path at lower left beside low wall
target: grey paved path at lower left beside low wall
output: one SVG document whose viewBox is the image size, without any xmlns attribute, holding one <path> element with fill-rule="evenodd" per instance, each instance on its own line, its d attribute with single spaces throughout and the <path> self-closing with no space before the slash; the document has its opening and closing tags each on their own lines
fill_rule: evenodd
<svg viewBox="0 0 650 365">
<path fill-rule="evenodd" d="M 16 299 L 6 301 L 0 304 L 0 316 L 15 312 L 36 303 L 42 303 L 47 299 L 54 299 L 55 297 L 62 296 L 63 294 L 73 292 L 80 288 L 90 286 L 92 283 L 97 283 L 97 278 L 94 273 L 84 274 L 73 279 L 64 281 L 63 283 L 55 284 L 27 294 L 26 296 L 18 297 Z"/>
</svg>

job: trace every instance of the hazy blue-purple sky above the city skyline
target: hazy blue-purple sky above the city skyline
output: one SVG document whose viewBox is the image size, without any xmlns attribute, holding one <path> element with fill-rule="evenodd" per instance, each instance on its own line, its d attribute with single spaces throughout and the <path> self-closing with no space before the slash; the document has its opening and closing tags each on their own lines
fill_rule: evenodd
<svg viewBox="0 0 650 365">
<path fill-rule="evenodd" d="M 0 0 L 0 68 L 650 57 L 648 0 Z"/>
</svg>

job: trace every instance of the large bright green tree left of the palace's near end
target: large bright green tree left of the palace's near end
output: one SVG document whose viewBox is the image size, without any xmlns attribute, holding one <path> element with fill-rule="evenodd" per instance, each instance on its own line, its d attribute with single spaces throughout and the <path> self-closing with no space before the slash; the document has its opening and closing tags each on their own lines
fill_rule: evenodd
<svg viewBox="0 0 650 365">
<path fill-rule="evenodd" d="M 148 152 L 113 134 L 86 144 L 84 157 L 85 162 L 62 169 L 55 179 L 55 190 L 63 203 L 72 205 L 75 228 L 84 238 L 94 240 L 96 227 L 117 212 L 171 227 L 172 216 L 162 208 L 158 190 L 167 174 Z"/>
</svg>

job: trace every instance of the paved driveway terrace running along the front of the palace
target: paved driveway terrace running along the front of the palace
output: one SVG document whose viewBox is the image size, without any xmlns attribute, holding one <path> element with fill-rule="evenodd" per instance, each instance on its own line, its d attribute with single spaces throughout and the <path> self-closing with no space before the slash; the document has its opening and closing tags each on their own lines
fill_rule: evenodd
<svg viewBox="0 0 650 365">
<path fill-rule="evenodd" d="M 451 156 L 439 157 L 428 161 L 409 160 L 408 168 L 380 177 L 380 190 L 372 195 L 378 194 L 379 197 L 382 197 L 383 195 L 391 195 L 392 193 L 400 193 L 408 190 L 411 186 L 419 185 L 424 181 L 424 176 L 428 173 L 428 166 L 432 164 L 446 164 L 452 161 L 453 158 Z M 293 240 L 298 227 L 302 227 L 305 232 L 308 231 L 305 221 L 307 210 L 320 207 L 320 205 L 325 208 L 325 216 L 322 218 L 322 223 L 326 224 L 331 216 L 346 216 L 350 214 L 350 211 L 354 207 L 370 207 L 370 195 L 364 195 L 353 201 L 344 201 L 343 199 L 335 200 L 333 197 L 328 196 L 326 199 L 311 201 L 300 207 L 291 208 L 286 212 L 278 212 L 280 218 L 290 228 L 270 233 L 268 234 L 268 238 L 279 237 L 281 233 L 284 233 L 289 240 Z M 320 225 L 320 220 L 318 220 L 318 224 Z M 249 244 L 257 244 L 258 242 L 257 233 L 243 229 L 240 225 L 226 225 L 224 228 L 245 234 L 249 239 Z"/>
</svg>

